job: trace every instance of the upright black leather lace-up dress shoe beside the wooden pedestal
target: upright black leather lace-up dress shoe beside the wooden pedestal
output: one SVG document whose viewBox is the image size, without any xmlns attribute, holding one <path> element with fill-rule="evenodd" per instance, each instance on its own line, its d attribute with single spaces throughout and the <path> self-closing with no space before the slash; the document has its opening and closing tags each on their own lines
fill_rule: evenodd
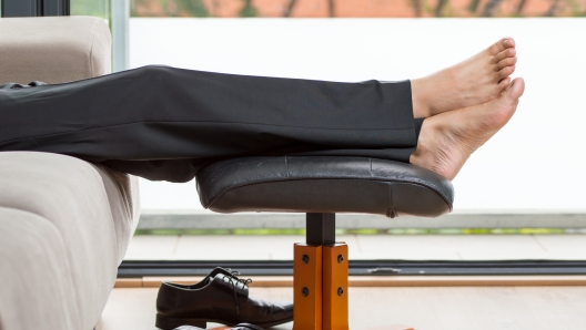
<svg viewBox="0 0 586 330">
<path fill-rule="evenodd" d="M 163 330 L 181 326 L 205 329 L 208 322 L 226 326 L 250 322 L 269 328 L 293 320 L 293 303 L 250 297 L 250 282 L 220 267 L 196 285 L 163 282 L 156 297 L 155 326 Z"/>
</svg>

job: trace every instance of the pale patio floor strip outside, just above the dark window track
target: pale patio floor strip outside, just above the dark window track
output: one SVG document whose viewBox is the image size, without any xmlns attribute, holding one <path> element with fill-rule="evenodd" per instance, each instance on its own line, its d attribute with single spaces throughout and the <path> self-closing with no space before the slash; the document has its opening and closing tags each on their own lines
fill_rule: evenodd
<svg viewBox="0 0 586 330">
<path fill-rule="evenodd" d="M 137 235 L 127 260 L 286 260 L 296 235 Z M 586 235 L 344 235 L 351 259 L 586 259 Z"/>
</svg>

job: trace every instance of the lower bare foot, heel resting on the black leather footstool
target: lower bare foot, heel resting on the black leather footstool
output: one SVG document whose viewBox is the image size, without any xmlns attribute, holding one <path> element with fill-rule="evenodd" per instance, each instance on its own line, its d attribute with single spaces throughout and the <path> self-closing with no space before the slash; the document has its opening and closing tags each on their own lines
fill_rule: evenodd
<svg viewBox="0 0 586 330">
<path fill-rule="evenodd" d="M 454 179 L 472 153 L 511 120 L 524 90 L 517 78 L 494 101 L 426 118 L 411 163 Z"/>
</svg>

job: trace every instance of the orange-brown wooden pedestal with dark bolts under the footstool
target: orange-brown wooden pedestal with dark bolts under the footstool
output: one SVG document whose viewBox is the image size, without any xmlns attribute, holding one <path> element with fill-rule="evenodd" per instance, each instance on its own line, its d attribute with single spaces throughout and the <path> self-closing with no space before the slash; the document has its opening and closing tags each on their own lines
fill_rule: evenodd
<svg viewBox="0 0 586 330">
<path fill-rule="evenodd" d="M 347 246 L 295 244 L 293 329 L 348 330 Z"/>
</svg>

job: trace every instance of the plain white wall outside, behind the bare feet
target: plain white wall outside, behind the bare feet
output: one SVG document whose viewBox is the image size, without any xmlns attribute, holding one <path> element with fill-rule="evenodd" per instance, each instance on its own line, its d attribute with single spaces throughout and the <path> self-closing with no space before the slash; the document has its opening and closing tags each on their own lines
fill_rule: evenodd
<svg viewBox="0 0 586 330">
<path fill-rule="evenodd" d="M 456 209 L 586 209 L 586 19 L 131 19 L 132 68 L 333 81 L 436 71 L 501 37 L 526 92 L 458 177 Z M 141 182 L 143 208 L 201 208 L 194 184 Z"/>
</svg>

